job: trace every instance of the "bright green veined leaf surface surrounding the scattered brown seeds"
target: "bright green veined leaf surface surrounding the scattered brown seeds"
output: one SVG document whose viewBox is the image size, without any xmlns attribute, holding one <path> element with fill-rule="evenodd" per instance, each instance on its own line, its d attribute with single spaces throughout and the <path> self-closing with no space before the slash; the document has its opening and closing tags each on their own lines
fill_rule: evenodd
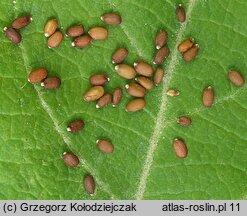
<svg viewBox="0 0 247 216">
<path fill-rule="evenodd" d="M 246 199 L 247 90 L 246 85 L 233 86 L 227 72 L 236 68 L 247 77 L 247 3 L 184 1 L 184 24 L 176 19 L 178 3 L 1 0 L 1 29 L 19 15 L 33 16 L 20 31 L 20 45 L 0 34 L 1 199 Z M 102 23 L 100 16 L 109 11 L 121 14 L 120 26 Z M 66 37 L 59 47 L 48 49 L 43 27 L 51 17 L 58 19 L 62 31 L 74 23 L 86 30 L 105 26 L 109 38 L 76 49 Z M 164 82 L 147 93 L 144 110 L 126 113 L 131 98 L 126 93 L 117 108 L 96 109 L 95 103 L 82 100 L 93 73 L 111 77 L 108 92 L 128 83 L 111 64 L 116 48 L 129 50 L 128 64 L 152 63 L 160 29 L 168 32 L 171 54 L 162 65 Z M 188 37 L 200 45 L 191 63 L 176 49 Z M 61 88 L 48 91 L 28 83 L 28 74 L 37 67 L 59 76 Z M 204 108 L 202 90 L 209 85 L 216 98 L 211 108 Z M 180 96 L 168 97 L 169 88 L 178 89 Z M 179 115 L 190 116 L 192 125 L 179 126 Z M 85 128 L 70 134 L 67 124 L 76 118 L 85 121 Z M 115 145 L 113 155 L 96 148 L 95 141 L 102 137 Z M 185 141 L 187 158 L 175 156 L 175 137 Z M 80 166 L 65 166 L 64 151 L 77 154 Z M 93 197 L 83 188 L 86 174 L 97 184 Z"/>
</svg>

